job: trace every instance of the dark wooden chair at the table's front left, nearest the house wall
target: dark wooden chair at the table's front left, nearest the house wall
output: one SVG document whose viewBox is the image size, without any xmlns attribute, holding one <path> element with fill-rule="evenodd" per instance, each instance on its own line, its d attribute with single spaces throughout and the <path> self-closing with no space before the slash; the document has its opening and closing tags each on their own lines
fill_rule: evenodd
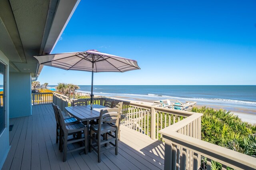
<svg viewBox="0 0 256 170">
<path fill-rule="evenodd" d="M 60 117 L 60 130 L 62 131 L 60 135 L 60 152 L 63 151 L 63 162 L 66 162 L 67 154 L 70 152 L 84 150 L 85 154 L 87 154 L 87 127 L 80 122 L 75 124 L 65 124 L 60 108 L 58 108 L 58 115 Z M 73 138 L 68 139 L 69 135 L 73 135 Z M 80 142 L 80 147 L 68 150 L 68 144 L 78 142 Z M 82 146 L 81 142 L 84 143 L 84 146 Z"/>
</svg>

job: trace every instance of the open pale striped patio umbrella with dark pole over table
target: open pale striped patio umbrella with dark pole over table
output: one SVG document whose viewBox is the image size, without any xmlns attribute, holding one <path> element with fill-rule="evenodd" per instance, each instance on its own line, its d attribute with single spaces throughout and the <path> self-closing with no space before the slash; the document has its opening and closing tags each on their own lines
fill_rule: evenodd
<svg viewBox="0 0 256 170">
<path fill-rule="evenodd" d="M 137 61 L 115 55 L 100 53 L 97 50 L 83 52 L 60 53 L 34 56 L 39 64 L 62 68 L 64 70 L 78 70 L 92 72 L 91 109 L 93 100 L 94 72 L 126 72 L 140 67 Z"/>
</svg>

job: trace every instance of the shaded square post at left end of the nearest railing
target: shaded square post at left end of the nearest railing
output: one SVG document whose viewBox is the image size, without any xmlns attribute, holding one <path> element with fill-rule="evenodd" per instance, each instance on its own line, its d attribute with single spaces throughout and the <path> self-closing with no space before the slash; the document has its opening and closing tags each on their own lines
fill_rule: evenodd
<svg viewBox="0 0 256 170">
<path fill-rule="evenodd" d="M 172 170 L 172 141 L 164 139 L 164 170 Z"/>
</svg>

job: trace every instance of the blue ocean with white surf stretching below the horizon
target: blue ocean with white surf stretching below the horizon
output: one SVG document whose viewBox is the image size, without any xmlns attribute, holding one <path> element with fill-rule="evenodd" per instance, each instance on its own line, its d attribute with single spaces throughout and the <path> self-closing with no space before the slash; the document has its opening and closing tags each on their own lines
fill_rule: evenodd
<svg viewBox="0 0 256 170">
<path fill-rule="evenodd" d="M 91 86 L 79 85 L 78 91 L 89 93 Z M 54 87 L 54 86 L 49 86 Z M 256 86 L 94 86 L 94 95 L 121 96 L 130 100 L 177 99 L 181 102 L 216 104 L 256 109 Z"/>
</svg>

